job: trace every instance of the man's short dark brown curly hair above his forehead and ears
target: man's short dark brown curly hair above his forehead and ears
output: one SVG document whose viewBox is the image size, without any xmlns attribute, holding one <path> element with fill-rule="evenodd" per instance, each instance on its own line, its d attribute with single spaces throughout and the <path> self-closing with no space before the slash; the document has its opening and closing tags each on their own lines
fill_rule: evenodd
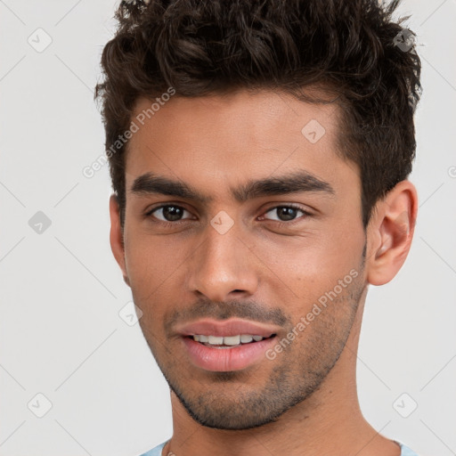
<svg viewBox="0 0 456 456">
<path fill-rule="evenodd" d="M 360 170 L 365 229 L 375 203 L 407 178 L 415 158 L 421 64 L 413 43 L 398 45 L 401 34 L 413 35 L 392 19 L 399 2 L 123 1 L 94 95 L 102 101 L 106 149 L 126 131 L 140 97 L 170 87 L 183 97 L 281 90 L 305 102 L 323 102 L 305 87 L 326 87 L 343 112 L 338 154 Z M 109 155 L 121 226 L 126 145 Z"/>
</svg>

